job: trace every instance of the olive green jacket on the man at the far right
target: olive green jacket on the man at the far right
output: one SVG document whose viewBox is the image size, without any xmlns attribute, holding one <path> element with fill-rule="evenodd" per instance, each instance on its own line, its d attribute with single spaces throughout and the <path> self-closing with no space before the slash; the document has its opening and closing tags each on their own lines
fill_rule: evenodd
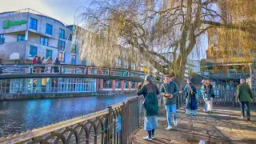
<svg viewBox="0 0 256 144">
<path fill-rule="evenodd" d="M 246 83 L 238 85 L 236 100 L 239 100 L 240 102 L 250 102 L 250 99 L 253 99 L 253 93 L 250 86 Z"/>
</svg>

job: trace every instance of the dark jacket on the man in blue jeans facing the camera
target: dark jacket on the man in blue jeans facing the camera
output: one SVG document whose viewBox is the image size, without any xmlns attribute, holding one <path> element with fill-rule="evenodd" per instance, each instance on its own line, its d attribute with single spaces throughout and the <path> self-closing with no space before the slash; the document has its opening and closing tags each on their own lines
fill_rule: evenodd
<svg viewBox="0 0 256 144">
<path fill-rule="evenodd" d="M 163 96 L 164 105 L 177 104 L 178 87 L 175 82 L 170 81 L 169 84 L 163 83 L 161 86 L 161 94 Z M 165 94 L 173 94 L 174 98 L 166 98 Z"/>
</svg>

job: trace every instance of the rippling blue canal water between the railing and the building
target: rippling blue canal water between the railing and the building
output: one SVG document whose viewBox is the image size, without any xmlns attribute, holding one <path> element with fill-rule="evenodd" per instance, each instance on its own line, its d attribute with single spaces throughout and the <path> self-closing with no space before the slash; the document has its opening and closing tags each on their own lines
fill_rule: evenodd
<svg viewBox="0 0 256 144">
<path fill-rule="evenodd" d="M 134 95 L 133 95 L 134 96 Z M 0 102 L 0 138 L 104 110 L 132 95 Z"/>
</svg>

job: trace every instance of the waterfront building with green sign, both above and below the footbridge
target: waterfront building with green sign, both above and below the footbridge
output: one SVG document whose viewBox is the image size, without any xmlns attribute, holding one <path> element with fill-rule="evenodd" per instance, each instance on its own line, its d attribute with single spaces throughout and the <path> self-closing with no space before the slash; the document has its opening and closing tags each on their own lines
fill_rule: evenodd
<svg viewBox="0 0 256 144">
<path fill-rule="evenodd" d="M 59 58 L 61 66 L 88 66 L 80 60 L 79 47 L 72 42 L 73 25 L 66 25 L 36 10 L 25 9 L 0 13 L 0 57 L 3 63 L 16 64 L 23 58 L 32 66 L 35 55 Z M 21 65 L 21 64 L 19 64 Z M 138 70 L 135 63 L 117 58 L 117 69 Z M 41 68 L 40 68 L 41 69 Z M 5 69 L 7 70 L 7 69 Z M 8 68 L 8 71 L 16 71 Z M 24 69 L 26 73 L 26 69 Z M 34 72 L 34 71 L 33 71 Z M 46 94 L 135 90 L 137 82 L 97 78 L 16 78 L 1 80 L 1 94 Z"/>
</svg>

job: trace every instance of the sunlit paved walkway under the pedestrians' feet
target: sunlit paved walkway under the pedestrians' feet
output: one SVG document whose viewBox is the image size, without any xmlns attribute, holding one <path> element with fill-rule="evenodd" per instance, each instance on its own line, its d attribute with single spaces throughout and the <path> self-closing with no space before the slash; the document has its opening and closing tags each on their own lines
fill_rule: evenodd
<svg viewBox="0 0 256 144">
<path fill-rule="evenodd" d="M 197 116 L 187 116 L 178 110 L 178 126 L 165 130 L 166 116 L 158 117 L 158 130 L 152 142 L 143 140 L 146 131 L 142 128 L 133 137 L 132 143 L 256 143 L 256 112 L 251 110 L 251 121 L 240 118 L 238 108 L 218 107 L 214 114 L 206 114 L 202 108 Z"/>
</svg>

